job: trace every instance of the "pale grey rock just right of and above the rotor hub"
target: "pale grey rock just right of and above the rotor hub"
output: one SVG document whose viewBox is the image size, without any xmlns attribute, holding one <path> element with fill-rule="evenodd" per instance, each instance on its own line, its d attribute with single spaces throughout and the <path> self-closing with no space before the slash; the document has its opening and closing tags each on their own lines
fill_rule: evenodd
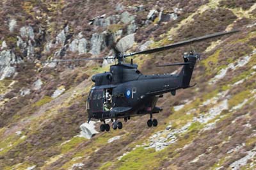
<svg viewBox="0 0 256 170">
<path fill-rule="evenodd" d="M 120 50 L 120 52 L 125 52 L 132 47 L 134 44 L 134 34 L 127 35 L 116 44 L 116 48 Z"/>
</svg>

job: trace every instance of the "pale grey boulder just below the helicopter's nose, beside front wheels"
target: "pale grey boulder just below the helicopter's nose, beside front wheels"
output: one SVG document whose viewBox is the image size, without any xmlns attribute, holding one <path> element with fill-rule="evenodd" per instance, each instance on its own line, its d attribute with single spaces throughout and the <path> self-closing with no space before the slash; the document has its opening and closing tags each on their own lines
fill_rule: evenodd
<svg viewBox="0 0 256 170">
<path fill-rule="evenodd" d="M 95 121 L 90 121 L 90 123 L 83 123 L 80 128 L 81 132 L 79 137 L 84 137 L 86 139 L 91 139 L 93 135 L 98 134 L 97 130 L 95 130 Z"/>
</svg>

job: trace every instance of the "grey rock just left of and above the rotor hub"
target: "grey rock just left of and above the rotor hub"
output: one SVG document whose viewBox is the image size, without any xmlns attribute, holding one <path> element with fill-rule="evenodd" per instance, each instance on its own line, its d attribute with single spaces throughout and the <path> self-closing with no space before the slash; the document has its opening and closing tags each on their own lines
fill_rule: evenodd
<svg viewBox="0 0 256 170">
<path fill-rule="evenodd" d="M 93 55 L 99 55 L 100 51 L 106 47 L 104 33 L 94 33 L 91 38 L 91 50 Z"/>
</svg>

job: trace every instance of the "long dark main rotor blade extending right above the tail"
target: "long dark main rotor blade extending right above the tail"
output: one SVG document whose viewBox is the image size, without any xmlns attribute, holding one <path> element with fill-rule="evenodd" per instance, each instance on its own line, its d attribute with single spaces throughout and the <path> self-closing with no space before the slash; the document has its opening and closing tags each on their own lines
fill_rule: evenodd
<svg viewBox="0 0 256 170">
<path fill-rule="evenodd" d="M 200 36 L 200 37 L 192 38 L 190 40 L 185 40 L 185 41 L 182 41 L 182 42 L 172 43 L 172 44 L 166 45 L 164 47 L 158 47 L 156 49 L 143 50 L 143 51 L 140 51 L 140 52 L 132 52 L 131 54 L 128 54 L 127 57 L 138 55 L 138 54 L 151 54 L 153 52 L 159 52 L 159 51 L 162 51 L 162 50 L 173 49 L 173 48 L 176 48 L 176 47 L 180 47 L 182 45 L 187 45 L 187 44 L 190 44 L 190 43 L 193 43 L 193 42 L 200 42 L 202 40 L 207 40 L 209 38 L 214 38 L 214 37 L 217 37 L 217 36 L 228 35 L 228 34 L 236 33 L 238 31 L 240 31 L 240 30 L 235 29 L 235 30 L 232 30 L 232 31 L 224 31 L 224 32 L 219 32 L 219 33 L 213 33 L 211 35 Z"/>
</svg>

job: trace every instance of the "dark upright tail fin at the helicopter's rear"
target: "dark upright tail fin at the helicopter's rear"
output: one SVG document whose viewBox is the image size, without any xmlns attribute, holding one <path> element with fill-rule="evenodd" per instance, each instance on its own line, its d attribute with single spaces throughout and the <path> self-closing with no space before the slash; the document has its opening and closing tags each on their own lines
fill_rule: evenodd
<svg viewBox="0 0 256 170">
<path fill-rule="evenodd" d="M 189 65 L 184 65 L 182 70 L 179 73 L 180 77 L 180 88 L 189 88 L 189 83 L 192 77 L 194 66 L 196 60 L 199 58 L 198 54 L 185 54 L 184 63 L 189 63 Z"/>
</svg>

